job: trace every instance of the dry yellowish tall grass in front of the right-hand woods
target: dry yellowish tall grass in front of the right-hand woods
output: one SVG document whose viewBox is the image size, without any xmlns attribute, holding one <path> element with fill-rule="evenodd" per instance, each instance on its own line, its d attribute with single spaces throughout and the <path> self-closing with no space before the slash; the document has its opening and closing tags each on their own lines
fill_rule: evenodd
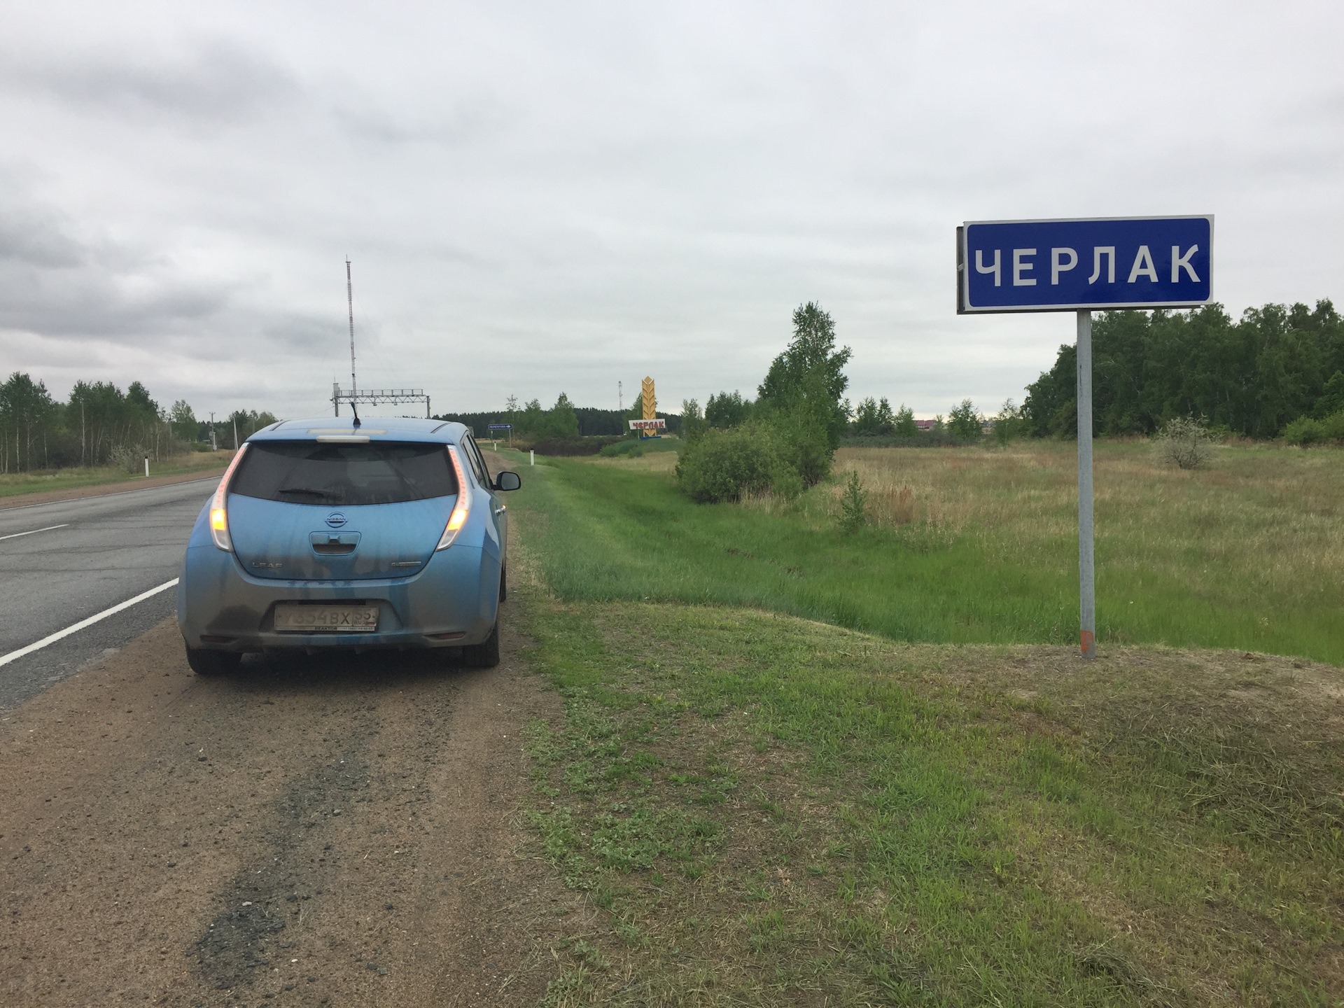
<svg viewBox="0 0 1344 1008">
<path fill-rule="evenodd" d="M 879 527 L 973 535 L 993 554 L 1035 563 L 1068 559 L 1047 543 L 1077 535 L 1073 444 L 841 449 L 836 472 L 849 470 L 868 489 Z M 1191 591 L 1231 578 L 1251 591 L 1344 593 L 1340 452 L 1230 446 L 1211 468 L 1183 470 L 1142 442 L 1098 442 L 1094 484 L 1097 548 L 1111 573 L 1132 571 L 1140 583 L 1144 573 L 1165 573 Z M 839 485 L 828 489 L 839 499 Z"/>
</svg>

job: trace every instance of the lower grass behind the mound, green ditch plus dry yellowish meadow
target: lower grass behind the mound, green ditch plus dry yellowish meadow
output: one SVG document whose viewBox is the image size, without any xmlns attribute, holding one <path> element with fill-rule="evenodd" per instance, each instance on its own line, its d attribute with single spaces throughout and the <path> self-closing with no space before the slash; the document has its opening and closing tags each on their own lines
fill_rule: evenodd
<svg viewBox="0 0 1344 1008">
<path fill-rule="evenodd" d="M 511 501 L 542 577 L 575 601 L 746 605 L 930 642 L 1074 642 L 1071 445 L 845 449 L 870 526 L 841 531 L 839 480 L 794 505 L 696 505 L 673 456 L 546 460 Z M 1227 448 L 1215 466 L 1097 446 L 1102 645 L 1227 646 L 1344 664 L 1344 456 Z"/>
</svg>

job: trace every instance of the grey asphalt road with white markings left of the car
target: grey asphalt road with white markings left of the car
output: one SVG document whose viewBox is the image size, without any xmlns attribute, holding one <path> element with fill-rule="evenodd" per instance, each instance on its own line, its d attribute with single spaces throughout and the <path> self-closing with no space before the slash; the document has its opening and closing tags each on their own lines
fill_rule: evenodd
<svg viewBox="0 0 1344 1008">
<path fill-rule="evenodd" d="M 0 511 L 0 657 L 177 577 L 218 478 Z M 173 613 L 168 589 L 0 665 L 11 710 Z"/>
</svg>

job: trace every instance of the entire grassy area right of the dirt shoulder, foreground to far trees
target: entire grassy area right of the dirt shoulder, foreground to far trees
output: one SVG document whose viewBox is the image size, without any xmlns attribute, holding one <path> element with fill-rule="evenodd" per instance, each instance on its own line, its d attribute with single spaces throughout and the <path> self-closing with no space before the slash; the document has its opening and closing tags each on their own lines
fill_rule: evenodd
<svg viewBox="0 0 1344 1008">
<path fill-rule="evenodd" d="M 1093 663 L 1067 445 L 843 453 L 853 536 L 523 468 L 524 816 L 591 911 L 546 1004 L 1344 1005 L 1344 673 L 1290 657 L 1340 661 L 1339 462 L 1101 445 Z"/>
</svg>

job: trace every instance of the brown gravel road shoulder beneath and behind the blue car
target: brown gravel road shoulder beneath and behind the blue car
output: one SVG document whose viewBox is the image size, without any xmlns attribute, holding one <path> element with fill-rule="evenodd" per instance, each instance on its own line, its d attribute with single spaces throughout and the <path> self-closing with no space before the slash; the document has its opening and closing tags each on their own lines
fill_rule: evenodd
<svg viewBox="0 0 1344 1008">
<path fill-rule="evenodd" d="M 517 853 L 558 703 L 504 628 L 206 680 L 165 621 L 0 719 L 0 1003 L 535 1003 L 581 905 Z"/>
</svg>

